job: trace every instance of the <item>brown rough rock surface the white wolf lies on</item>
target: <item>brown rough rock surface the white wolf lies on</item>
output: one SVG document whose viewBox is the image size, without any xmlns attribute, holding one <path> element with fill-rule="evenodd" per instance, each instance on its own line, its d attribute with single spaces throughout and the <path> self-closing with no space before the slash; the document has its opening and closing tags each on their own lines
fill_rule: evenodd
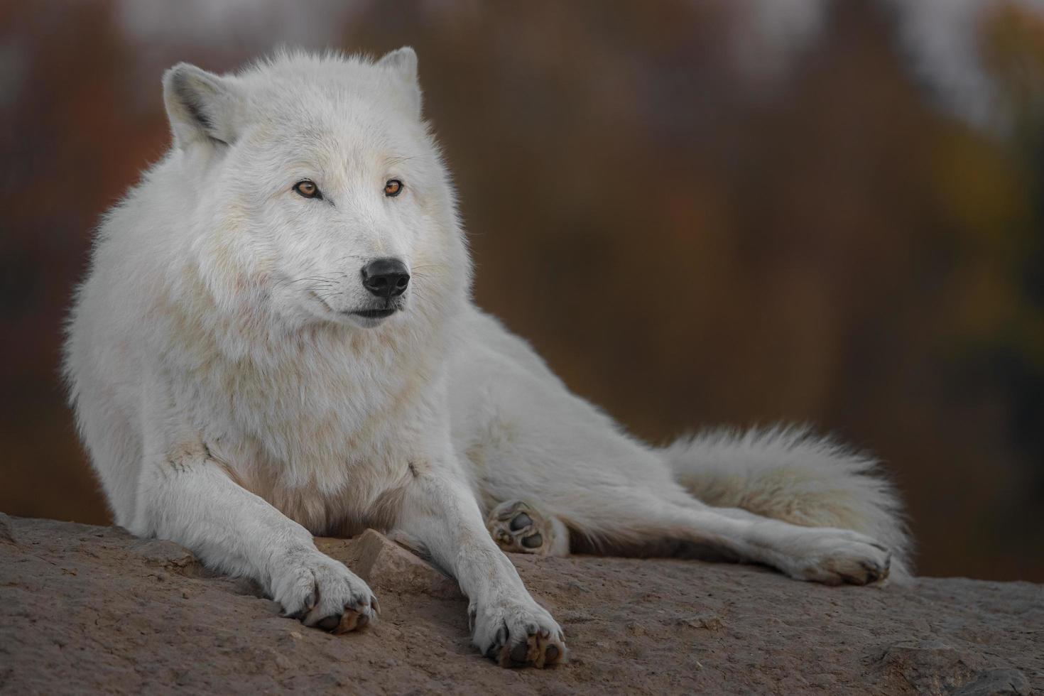
<svg viewBox="0 0 1044 696">
<path fill-rule="evenodd" d="M 317 539 L 381 620 L 331 635 L 168 542 L 0 514 L 0 692 L 1044 693 L 1044 586 L 825 587 L 744 566 L 514 556 L 571 662 L 504 670 L 455 584 L 377 532 Z"/>
</svg>

